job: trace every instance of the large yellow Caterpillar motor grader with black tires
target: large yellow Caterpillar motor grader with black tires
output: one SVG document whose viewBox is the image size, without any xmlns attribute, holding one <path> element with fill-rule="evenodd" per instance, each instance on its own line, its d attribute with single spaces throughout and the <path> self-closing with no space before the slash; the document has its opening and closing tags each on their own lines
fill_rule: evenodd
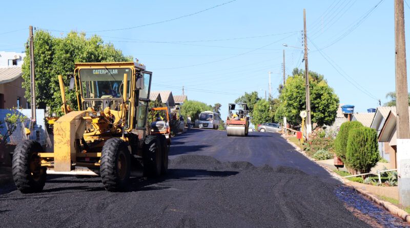
<svg viewBox="0 0 410 228">
<path fill-rule="evenodd" d="M 151 76 L 134 62 L 76 63 L 70 78 L 78 103 L 73 111 L 59 75 L 64 115 L 46 115 L 53 125 L 53 153 L 33 140 L 19 143 L 12 161 L 17 189 L 39 192 L 47 174 L 68 174 L 99 175 L 106 190 L 120 191 L 131 175 L 166 174 L 166 136 L 147 131 Z"/>
</svg>

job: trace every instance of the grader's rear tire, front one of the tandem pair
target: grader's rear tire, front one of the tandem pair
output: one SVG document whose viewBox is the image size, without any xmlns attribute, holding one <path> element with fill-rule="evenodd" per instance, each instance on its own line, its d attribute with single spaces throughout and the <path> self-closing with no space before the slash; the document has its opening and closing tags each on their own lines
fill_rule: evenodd
<svg viewBox="0 0 410 228">
<path fill-rule="evenodd" d="M 144 176 L 159 177 L 162 168 L 162 151 L 160 136 L 148 135 L 144 140 Z"/>
</svg>

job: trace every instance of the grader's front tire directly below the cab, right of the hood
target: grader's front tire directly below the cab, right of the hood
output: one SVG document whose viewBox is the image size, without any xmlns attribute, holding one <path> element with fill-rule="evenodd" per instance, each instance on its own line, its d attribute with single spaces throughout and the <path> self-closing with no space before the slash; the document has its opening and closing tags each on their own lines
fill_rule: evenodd
<svg viewBox="0 0 410 228">
<path fill-rule="evenodd" d="M 124 190 L 130 180 L 131 158 L 127 144 L 119 138 L 108 139 L 101 150 L 100 175 L 110 192 Z"/>
</svg>

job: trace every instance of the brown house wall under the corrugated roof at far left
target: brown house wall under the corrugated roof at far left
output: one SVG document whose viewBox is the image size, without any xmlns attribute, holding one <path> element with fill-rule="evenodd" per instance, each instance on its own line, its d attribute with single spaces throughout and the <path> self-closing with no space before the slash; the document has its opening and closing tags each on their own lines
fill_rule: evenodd
<svg viewBox="0 0 410 228">
<path fill-rule="evenodd" d="M 0 105 L 0 109 L 11 109 L 12 107 L 17 107 L 17 97 L 20 98 L 19 108 L 30 108 L 27 107 L 27 100 L 24 98 L 25 90 L 22 88 L 23 78 L 18 77 L 14 81 L 6 82 L 0 84 L 0 94 L 3 94 L 3 105 Z M 1 99 L 1 98 L 0 98 Z"/>
</svg>

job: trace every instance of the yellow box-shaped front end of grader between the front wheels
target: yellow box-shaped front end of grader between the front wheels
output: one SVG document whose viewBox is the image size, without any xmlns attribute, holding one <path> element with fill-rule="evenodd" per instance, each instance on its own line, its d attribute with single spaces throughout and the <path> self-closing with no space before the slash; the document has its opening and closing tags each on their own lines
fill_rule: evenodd
<svg viewBox="0 0 410 228">
<path fill-rule="evenodd" d="M 70 171 L 75 162 L 75 139 L 86 130 L 85 111 L 73 111 L 54 121 L 54 171 Z"/>
</svg>

